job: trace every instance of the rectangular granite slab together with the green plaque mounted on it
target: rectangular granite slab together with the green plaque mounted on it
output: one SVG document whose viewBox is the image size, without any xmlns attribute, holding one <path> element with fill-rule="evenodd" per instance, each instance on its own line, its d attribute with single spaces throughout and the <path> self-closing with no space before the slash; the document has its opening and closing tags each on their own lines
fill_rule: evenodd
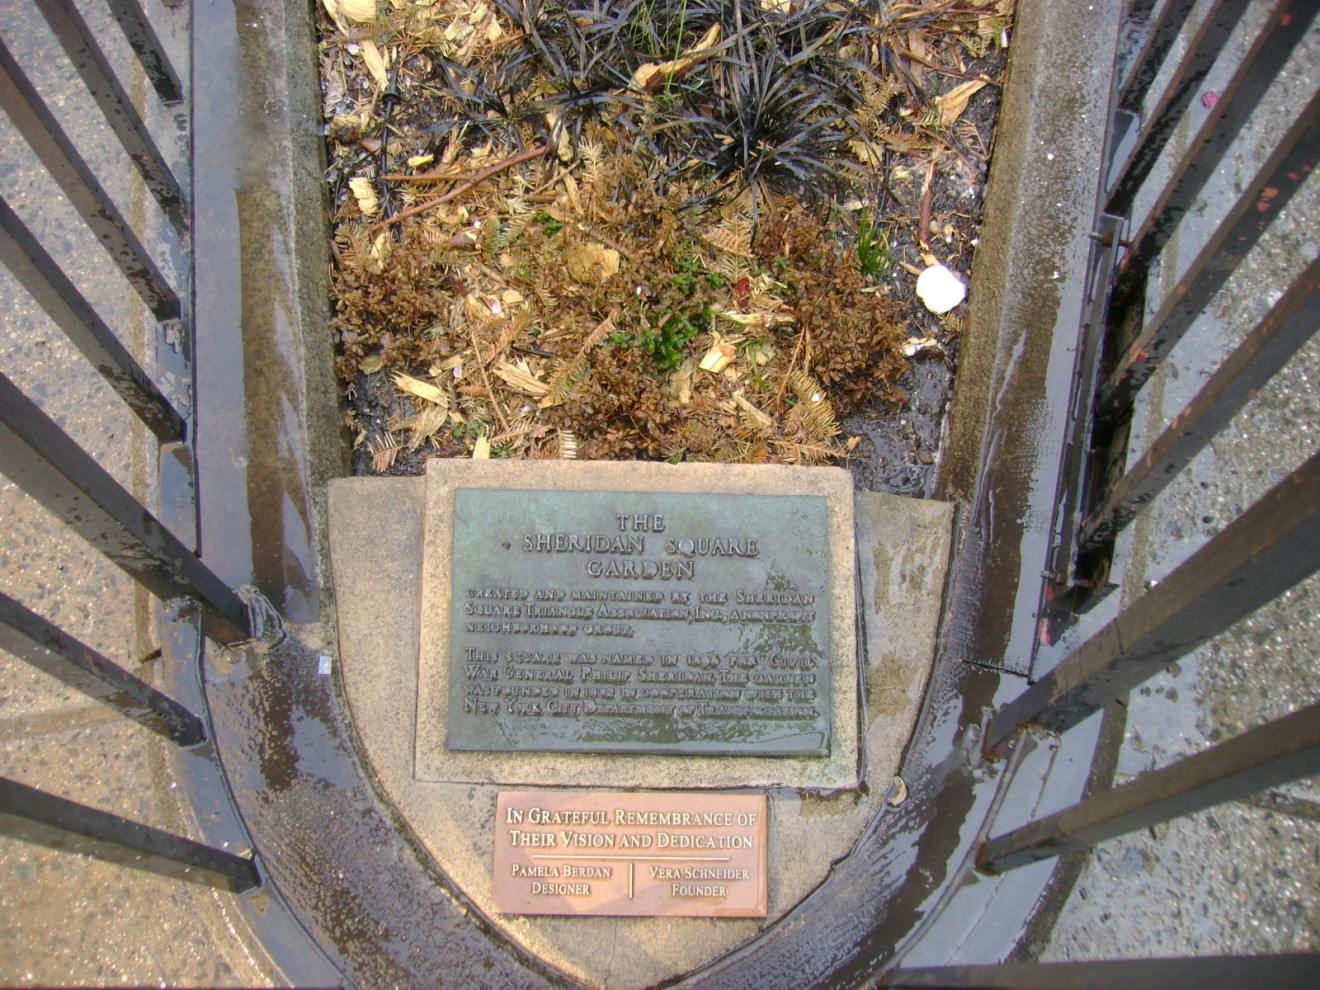
<svg viewBox="0 0 1320 990">
<path fill-rule="evenodd" d="M 853 785 L 854 556 L 840 469 L 432 461 L 417 777 Z"/>
</svg>

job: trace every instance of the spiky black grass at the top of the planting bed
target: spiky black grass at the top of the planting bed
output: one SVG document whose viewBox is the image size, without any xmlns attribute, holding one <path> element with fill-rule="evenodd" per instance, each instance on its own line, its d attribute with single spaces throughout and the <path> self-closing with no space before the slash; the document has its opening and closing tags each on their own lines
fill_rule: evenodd
<svg viewBox="0 0 1320 990">
<path fill-rule="evenodd" d="M 870 71 L 875 21 L 834 0 L 492 0 L 523 36 L 490 63 L 442 65 L 459 116 L 488 136 L 544 127 L 574 141 L 593 116 L 622 123 L 639 145 L 697 170 L 697 199 L 730 185 L 834 191 L 861 168 L 853 108 Z M 636 69 L 681 57 L 711 26 L 721 41 L 696 71 L 655 94 L 630 88 Z M 857 54 L 863 53 L 863 59 Z"/>
</svg>

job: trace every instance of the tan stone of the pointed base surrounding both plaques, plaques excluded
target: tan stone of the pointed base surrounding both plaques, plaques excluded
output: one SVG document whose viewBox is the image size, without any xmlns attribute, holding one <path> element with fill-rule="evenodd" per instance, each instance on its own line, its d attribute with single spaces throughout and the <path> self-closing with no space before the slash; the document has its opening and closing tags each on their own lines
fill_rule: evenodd
<svg viewBox="0 0 1320 990">
<path fill-rule="evenodd" d="M 453 532 L 445 529 L 446 517 L 454 490 L 465 487 L 824 495 L 833 622 L 830 755 L 450 751 L 450 599 L 447 587 L 432 581 L 450 577 Z M 644 990 L 735 952 L 818 890 L 832 865 L 874 828 L 931 671 L 952 506 L 869 492 L 854 496 L 849 474 L 837 469 L 447 461 L 434 462 L 429 478 L 338 479 L 330 487 L 329 510 L 339 635 L 334 669 L 342 673 L 372 774 L 400 820 L 474 909 L 568 978 L 595 990 Z M 855 632 L 865 632 L 865 694 L 858 685 Z M 418 643 L 424 644 L 420 661 Z M 537 807 L 549 807 L 606 789 L 681 801 L 693 791 L 746 795 L 762 788 L 771 788 L 764 917 L 502 913 L 507 908 L 496 904 L 492 865 L 500 792 L 536 792 Z"/>
</svg>

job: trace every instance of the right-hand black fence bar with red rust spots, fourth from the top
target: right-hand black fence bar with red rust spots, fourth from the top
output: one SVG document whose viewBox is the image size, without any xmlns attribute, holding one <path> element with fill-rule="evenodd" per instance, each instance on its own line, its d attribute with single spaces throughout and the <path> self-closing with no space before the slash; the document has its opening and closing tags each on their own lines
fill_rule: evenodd
<svg viewBox="0 0 1320 990">
<path fill-rule="evenodd" d="M 1129 345 L 1101 387 L 1097 416 L 1111 418 L 1133 401 L 1317 164 L 1320 91 L 1288 128 L 1155 315 Z"/>
</svg>

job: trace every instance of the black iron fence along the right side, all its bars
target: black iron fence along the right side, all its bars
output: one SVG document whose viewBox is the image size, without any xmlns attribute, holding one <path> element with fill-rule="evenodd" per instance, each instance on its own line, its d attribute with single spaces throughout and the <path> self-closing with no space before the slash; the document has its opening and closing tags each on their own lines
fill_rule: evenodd
<svg viewBox="0 0 1320 990">
<path fill-rule="evenodd" d="M 1163 433 L 1144 445 L 1134 436 L 1143 387 L 1206 314 L 1320 158 L 1315 92 L 1271 135 L 1222 219 L 1208 232 L 1188 222 L 1204 209 L 1199 201 L 1234 141 L 1263 112 L 1266 92 L 1290 57 L 1315 36 L 1317 11 L 1316 0 L 1127 5 L 1111 81 L 1106 174 L 1098 182 L 1090 235 L 1090 309 L 1077 335 L 1056 556 L 1044 574 L 1047 624 L 1072 623 L 1114 591 L 1122 531 L 1320 325 L 1320 259 L 1302 259 L 1278 301 Z M 1247 15 L 1263 22 L 1241 57 L 1220 66 L 1217 88 L 1206 90 L 1205 81 Z M 1195 246 L 1185 267 L 1168 255 L 1175 239 L 1184 255 L 1188 243 Z M 1170 269 L 1176 277 L 1162 289 Z M 1068 731 L 1317 569 L 1320 454 L 1312 454 L 1001 709 L 986 733 L 987 754 L 1003 755 L 1031 734 Z M 1316 772 L 1320 704 L 1311 704 L 1057 813 L 1003 834 L 991 830 L 977 865 L 987 873 L 1012 870 Z M 1163 987 L 1254 979 L 1315 986 L 1317 977 L 1315 956 L 1259 956 L 898 969 L 880 982 Z"/>
</svg>

